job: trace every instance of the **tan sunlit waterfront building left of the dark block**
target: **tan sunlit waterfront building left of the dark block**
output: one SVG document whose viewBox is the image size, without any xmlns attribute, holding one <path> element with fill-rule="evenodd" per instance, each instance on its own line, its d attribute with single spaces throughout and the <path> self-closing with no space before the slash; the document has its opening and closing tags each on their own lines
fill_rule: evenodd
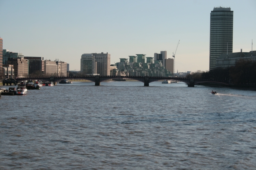
<svg viewBox="0 0 256 170">
<path fill-rule="evenodd" d="M 28 59 L 24 57 L 8 58 L 8 65 L 13 65 L 15 77 L 28 77 Z"/>
</svg>

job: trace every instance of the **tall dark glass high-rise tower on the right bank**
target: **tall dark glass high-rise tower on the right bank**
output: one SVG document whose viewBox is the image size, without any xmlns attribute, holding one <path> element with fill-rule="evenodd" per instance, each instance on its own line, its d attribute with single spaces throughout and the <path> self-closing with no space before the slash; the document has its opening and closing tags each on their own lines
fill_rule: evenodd
<svg viewBox="0 0 256 170">
<path fill-rule="evenodd" d="M 216 59 L 223 53 L 233 52 L 233 11 L 214 7 L 210 21 L 210 70 L 215 68 Z"/>
</svg>

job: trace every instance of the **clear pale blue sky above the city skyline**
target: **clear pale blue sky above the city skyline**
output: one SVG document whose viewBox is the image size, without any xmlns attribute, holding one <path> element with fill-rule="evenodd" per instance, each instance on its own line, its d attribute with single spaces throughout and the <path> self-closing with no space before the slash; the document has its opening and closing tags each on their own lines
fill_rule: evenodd
<svg viewBox="0 0 256 170">
<path fill-rule="evenodd" d="M 80 70 L 83 53 L 108 52 L 111 64 L 160 51 L 171 58 L 180 40 L 176 71 L 205 71 L 217 6 L 234 11 L 233 52 L 250 51 L 256 0 L 0 0 L 0 37 L 4 49 L 57 58 L 70 70 Z"/>
</svg>

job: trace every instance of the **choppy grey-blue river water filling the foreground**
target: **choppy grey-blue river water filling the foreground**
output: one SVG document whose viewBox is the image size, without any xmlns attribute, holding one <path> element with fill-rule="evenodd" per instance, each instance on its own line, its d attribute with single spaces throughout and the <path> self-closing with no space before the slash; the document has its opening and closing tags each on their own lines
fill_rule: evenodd
<svg viewBox="0 0 256 170">
<path fill-rule="evenodd" d="M 101 85 L 2 96 L 0 169 L 256 169 L 256 91 Z"/>
</svg>

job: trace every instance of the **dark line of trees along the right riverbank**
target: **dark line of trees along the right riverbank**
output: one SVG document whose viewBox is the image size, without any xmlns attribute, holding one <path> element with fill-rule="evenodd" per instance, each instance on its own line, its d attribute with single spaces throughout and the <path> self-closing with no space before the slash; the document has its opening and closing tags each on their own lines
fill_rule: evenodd
<svg viewBox="0 0 256 170">
<path fill-rule="evenodd" d="M 229 81 L 234 85 L 256 84 L 256 61 L 238 60 L 235 66 L 229 68 L 215 68 L 210 71 L 196 71 L 186 77 L 193 76 L 194 79 L 210 79 Z"/>
</svg>

